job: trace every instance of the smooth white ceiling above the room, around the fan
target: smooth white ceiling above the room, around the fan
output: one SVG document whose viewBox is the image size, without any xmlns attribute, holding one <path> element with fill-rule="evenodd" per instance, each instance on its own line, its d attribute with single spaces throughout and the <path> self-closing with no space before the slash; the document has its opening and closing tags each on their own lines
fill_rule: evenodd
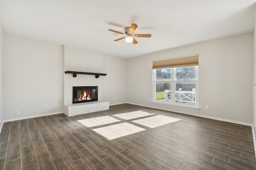
<svg viewBox="0 0 256 170">
<path fill-rule="evenodd" d="M 254 29 L 255 0 L 1 0 L 4 33 L 130 58 Z M 138 44 L 125 43 L 136 23 Z"/>
</svg>

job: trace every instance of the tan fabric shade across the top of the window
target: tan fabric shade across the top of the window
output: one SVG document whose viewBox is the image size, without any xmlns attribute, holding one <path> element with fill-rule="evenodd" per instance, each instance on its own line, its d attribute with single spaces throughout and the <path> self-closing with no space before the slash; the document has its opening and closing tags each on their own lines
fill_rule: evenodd
<svg viewBox="0 0 256 170">
<path fill-rule="evenodd" d="M 176 59 L 153 61 L 153 69 L 174 68 L 184 66 L 198 66 L 198 55 Z"/>
</svg>

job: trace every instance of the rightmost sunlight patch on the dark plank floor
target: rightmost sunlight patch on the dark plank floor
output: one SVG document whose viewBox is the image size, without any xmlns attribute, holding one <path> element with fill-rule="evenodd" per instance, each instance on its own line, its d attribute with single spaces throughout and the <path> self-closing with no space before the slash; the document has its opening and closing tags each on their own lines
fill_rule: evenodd
<svg viewBox="0 0 256 170">
<path fill-rule="evenodd" d="M 132 122 L 138 123 L 146 127 L 154 128 L 154 127 L 158 127 L 158 126 L 165 125 L 165 124 L 172 123 L 179 120 L 181 119 L 163 116 L 163 115 L 157 115 L 157 116 L 148 117 L 144 119 L 134 120 Z"/>
</svg>

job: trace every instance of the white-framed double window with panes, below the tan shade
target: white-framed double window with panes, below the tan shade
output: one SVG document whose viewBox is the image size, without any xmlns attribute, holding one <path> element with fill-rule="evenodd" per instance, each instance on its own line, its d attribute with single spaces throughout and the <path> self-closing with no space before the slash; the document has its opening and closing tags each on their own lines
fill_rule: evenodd
<svg viewBox="0 0 256 170">
<path fill-rule="evenodd" d="M 198 106 L 198 66 L 153 68 L 153 89 L 154 102 Z"/>
</svg>

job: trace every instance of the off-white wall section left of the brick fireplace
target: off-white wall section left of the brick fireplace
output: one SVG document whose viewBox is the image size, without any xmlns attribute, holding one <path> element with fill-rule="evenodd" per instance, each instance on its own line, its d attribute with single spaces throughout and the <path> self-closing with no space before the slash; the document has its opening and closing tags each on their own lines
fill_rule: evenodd
<svg viewBox="0 0 256 170">
<path fill-rule="evenodd" d="M 4 35 L 5 121 L 63 111 L 63 51 L 62 45 Z"/>
</svg>

